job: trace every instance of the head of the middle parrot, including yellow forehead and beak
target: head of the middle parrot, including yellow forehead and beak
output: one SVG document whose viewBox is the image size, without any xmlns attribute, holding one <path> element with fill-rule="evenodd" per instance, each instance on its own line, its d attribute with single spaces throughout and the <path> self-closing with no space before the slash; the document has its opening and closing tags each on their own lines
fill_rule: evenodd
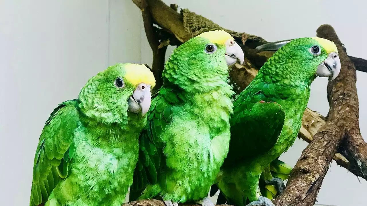
<svg viewBox="0 0 367 206">
<path fill-rule="evenodd" d="M 184 83 L 200 82 L 210 87 L 218 78 L 227 78 L 229 67 L 243 61 L 243 51 L 233 37 L 225 31 L 214 30 L 193 37 L 176 48 L 166 62 L 162 76 L 164 81 L 168 79 L 181 87 L 185 87 L 183 80 Z"/>
</svg>

